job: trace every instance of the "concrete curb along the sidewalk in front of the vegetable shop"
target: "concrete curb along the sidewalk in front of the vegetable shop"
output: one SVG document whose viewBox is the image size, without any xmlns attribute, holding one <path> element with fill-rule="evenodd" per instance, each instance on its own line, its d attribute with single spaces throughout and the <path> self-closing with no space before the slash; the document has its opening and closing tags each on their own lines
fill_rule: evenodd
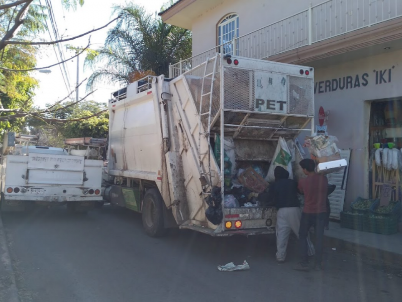
<svg viewBox="0 0 402 302">
<path fill-rule="evenodd" d="M 324 235 L 324 245 L 355 253 L 357 256 L 389 265 L 402 267 L 402 254 L 388 252 L 362 244 Z"/>
</svg>

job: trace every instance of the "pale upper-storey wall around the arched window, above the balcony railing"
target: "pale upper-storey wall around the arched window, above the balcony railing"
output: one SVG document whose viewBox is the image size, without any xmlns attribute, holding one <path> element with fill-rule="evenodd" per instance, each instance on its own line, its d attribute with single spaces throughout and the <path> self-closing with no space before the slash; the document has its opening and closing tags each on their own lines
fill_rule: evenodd
<svg viewBox="0 0 402 302">
<path fill-rule="evenodd" d="M 230 13 L 239 15 L 239 35 L 287 18 L 316 5 L 320 0 L 224 0 L 203 13 L 192 24 L 192 53 L 202 53 L 217 45 L 217 25 Z"/>
</svg>

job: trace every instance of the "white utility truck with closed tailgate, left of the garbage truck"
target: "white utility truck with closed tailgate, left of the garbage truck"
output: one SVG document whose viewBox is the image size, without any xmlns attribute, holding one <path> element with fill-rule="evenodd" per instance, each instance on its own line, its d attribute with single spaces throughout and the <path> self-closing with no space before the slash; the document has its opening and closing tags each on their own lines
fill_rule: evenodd
<svg viewBox="0 0 402 302">
<path fill-rule="evenodd" d="M 16 140 L 24 144 L 16 144 Z M 102 201 L 103 161 L 70 155 L 66 149 L 29 145 L 33 135 L 6 133 L 1 163 L 1 210 L 33 204 L 67 204 L 87 211 Z"/>
</svg>

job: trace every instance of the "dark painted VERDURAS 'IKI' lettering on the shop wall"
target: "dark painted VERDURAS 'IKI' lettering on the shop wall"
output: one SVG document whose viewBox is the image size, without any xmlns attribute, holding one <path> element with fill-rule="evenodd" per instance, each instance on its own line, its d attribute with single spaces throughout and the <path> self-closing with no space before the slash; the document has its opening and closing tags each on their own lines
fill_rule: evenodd
<svg viewBox="0 0 402 302">
<path fill-rule="evenodd" d="M 349 90 L 355 88 L 363 88 L 370 85 L 381 85 L 391 83 L 392 81 L 392 66 L 388 69 L 373 70 L 370 74 L 365 72 L 356 75 L 347 75 L 342 78 L 328 79 L 325 81 L 316 82 L 314 85 L 314 94 L 322 94 L 328 92 L 335 92 L 339 90 Z"/>
</svg>

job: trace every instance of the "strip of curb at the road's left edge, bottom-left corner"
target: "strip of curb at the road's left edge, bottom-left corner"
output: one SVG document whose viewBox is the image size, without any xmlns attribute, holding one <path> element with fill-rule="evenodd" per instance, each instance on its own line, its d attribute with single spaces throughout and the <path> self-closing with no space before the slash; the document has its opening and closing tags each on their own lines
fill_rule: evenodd
<svg viewBox="0 0 402 302">
<path fill-rule="evenodd" d="M 18 297 L 18 289 L 16 278 L 11 264 L 9 248 L 7 246 L 6 233 L 3 228 L 2 216 L 0 215 L 0 260 L 2 270 L 0 271 L 0 280 L 3 282 L 4 288 L 0 288 L 0 299 L 7 302 L 20 302 Z M 5 276 L 2 276 L 2 275 Z M 8 280 L 8 282 L 4 282 Z"/>
</svg>

